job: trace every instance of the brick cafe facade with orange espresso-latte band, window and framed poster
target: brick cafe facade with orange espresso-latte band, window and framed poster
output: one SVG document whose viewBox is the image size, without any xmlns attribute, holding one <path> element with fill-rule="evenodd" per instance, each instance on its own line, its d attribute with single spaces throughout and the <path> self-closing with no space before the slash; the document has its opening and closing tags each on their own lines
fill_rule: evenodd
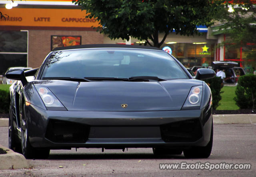
<svg viewBox="0 0 256 177">
<path fill-rule="evenodd" d="M 0 74 L 14 66 L 37 68 L 55 47 L 104 42 L 92 28 L 97 20 L 85 18 L 77 6 L 25 5 L 0 12 L 9 16 L 0 20 Z"/>
</svg>

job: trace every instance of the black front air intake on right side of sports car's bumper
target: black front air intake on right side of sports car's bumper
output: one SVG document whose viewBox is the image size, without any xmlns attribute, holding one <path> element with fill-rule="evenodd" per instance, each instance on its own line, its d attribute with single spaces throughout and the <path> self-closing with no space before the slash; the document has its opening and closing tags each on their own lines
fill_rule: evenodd
<svg viewBox="0 0 256 177">
<path fill-rule="evenodd" d="M 160 131 L 166 143 L 194 142 L 202 137 L 199 119 L 164 124 L 160 126 Z"/>
</svg>

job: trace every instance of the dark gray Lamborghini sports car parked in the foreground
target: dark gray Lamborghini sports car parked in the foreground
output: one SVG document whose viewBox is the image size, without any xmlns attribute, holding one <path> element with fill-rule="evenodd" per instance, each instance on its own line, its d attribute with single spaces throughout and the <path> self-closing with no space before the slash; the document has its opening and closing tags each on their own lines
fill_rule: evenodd
<svg viewBox="0 0 256 177">
<path fill-rule="evenodd" d="M 28 81 L 28 76 L 32 76 Z M 152 147 L 155 155 L 209 157 L 212 95 L 170 54 L 131 45 L 56 48 L 40 68 L 11 70 L 9 147 L 26 158 L 50 149 Z"/>
</svg>

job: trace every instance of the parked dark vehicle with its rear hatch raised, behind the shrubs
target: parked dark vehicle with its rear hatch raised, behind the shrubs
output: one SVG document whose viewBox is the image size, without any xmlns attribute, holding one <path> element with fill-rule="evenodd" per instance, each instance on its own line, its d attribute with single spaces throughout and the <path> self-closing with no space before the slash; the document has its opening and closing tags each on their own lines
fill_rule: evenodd
<svg viewBox="0 0 256 177">
<path fill-rule="evenodd" d="M 226 78 L 225 84 L 236 84 L 239 76 L 245 75 L 243 68 L 238 67 L 237 62 L 233 61 L 214 61 L 212 62 L 212 69 L 217 73 L 217 70 L 224 70 Z"/>
</svg>

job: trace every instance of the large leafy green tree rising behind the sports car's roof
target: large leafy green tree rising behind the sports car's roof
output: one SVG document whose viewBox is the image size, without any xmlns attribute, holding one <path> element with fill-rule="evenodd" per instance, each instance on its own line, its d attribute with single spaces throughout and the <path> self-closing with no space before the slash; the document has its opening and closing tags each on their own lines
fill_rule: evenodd
<svg viewBox="0 0 256 177">
<path fill-rule="evenodd" d="M 97 18 L 96 27 L 109 38 L 129 37 L 145 40 L 160 47 L 166 36 L 197 34 L 197 25 L 212 25 L 212 18 L 221 8 L 220 1 L 212 0 L 77 0 L 73 1 L 86 10 L 87 18 Z M 161 41 L 158 34 L 164 33 Z"/>
</svg>

